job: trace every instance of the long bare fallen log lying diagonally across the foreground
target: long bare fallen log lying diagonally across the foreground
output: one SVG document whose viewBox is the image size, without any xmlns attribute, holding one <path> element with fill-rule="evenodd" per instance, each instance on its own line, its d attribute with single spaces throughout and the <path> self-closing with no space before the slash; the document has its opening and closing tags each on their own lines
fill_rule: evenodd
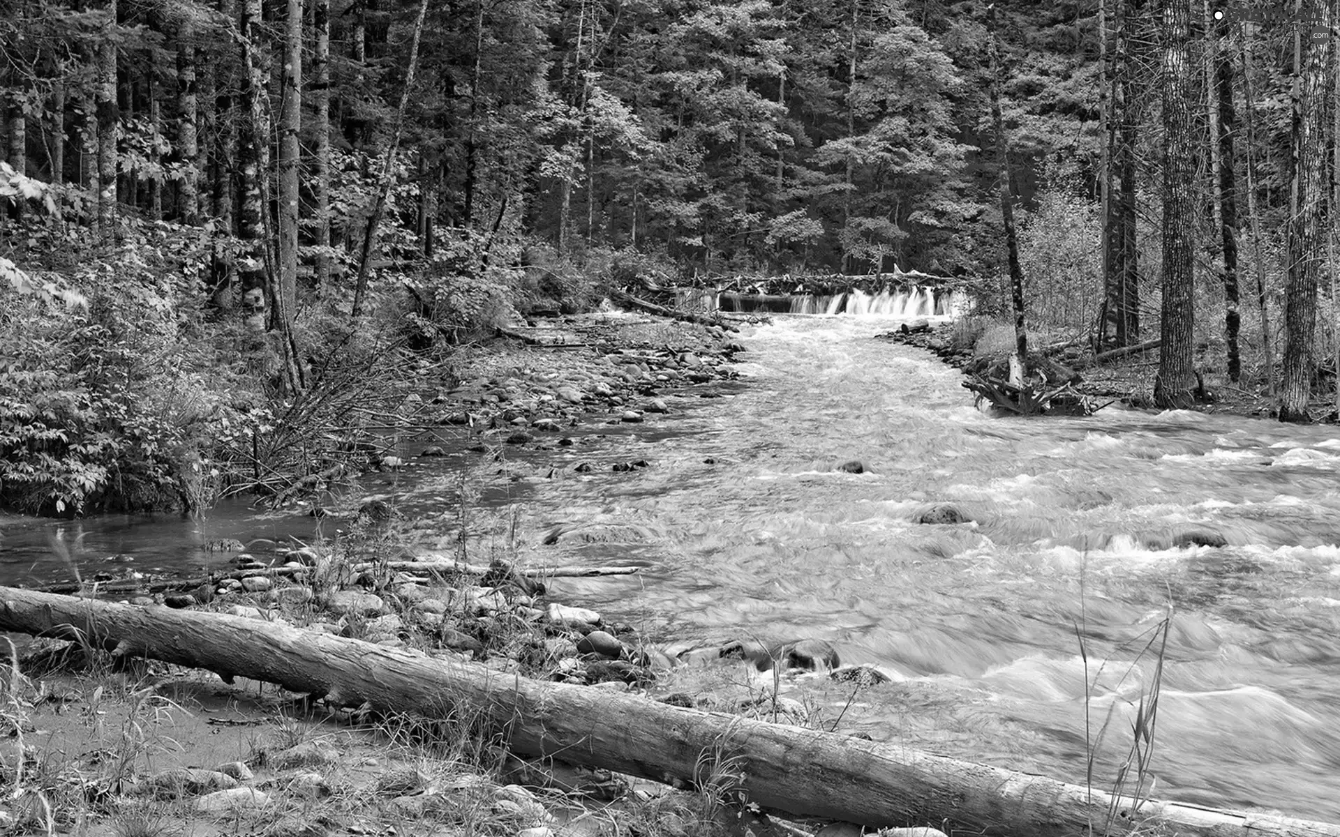
<svg viewBox="0 0 1340 837">
<path fill-rule="evenodd" d="M 946 832 L 1075 837 L 1103 832 L 1110 797 L 1077 785 L 887 743 L 584 686 L 541 683 L 484 666 L 283 624 L 0 587 L 0 629 L 72 637 L 222 675 L 276 683 L 327 702 L 445 716 L 474 707 L 513 751 L 675 785 L 716 770 L 764 808 L 863 825 L 947 825 Z M 1340 825 L 1144 802 L 1110 834 L 1340 837 Z"/>
</svg>

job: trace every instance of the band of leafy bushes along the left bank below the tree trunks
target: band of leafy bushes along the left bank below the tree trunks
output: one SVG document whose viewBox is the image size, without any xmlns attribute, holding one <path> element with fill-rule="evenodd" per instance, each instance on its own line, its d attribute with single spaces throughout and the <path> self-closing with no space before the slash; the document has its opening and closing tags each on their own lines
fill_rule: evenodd
<svg viewBox="0 0 1340 837">
<path fill-rule="evenodd" d="M 74 197 L 31 183 L 52 205 Z M 356 467 L 370 416 L 450 386 L 460 347 L 525 311 L 586 309 L 599 283 L 646 269 L 543 249 L 489 268 L 457 248 L 385 271 L 358 319 L 311 293 L 292 328 L 308 386 L 293 391 L 279 333 L 205 287 L 226 253 L 204 230 L 131 220 L 111 245 L 31 210 L 7 232 L 0 506 L 39 514 L 204 509 Z"/>
</svg>

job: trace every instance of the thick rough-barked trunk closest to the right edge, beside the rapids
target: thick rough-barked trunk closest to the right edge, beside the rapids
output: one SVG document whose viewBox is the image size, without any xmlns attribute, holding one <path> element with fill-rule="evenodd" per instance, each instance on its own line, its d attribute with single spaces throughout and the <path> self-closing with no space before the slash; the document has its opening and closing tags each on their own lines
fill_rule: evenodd
<svg viewBox="0 0 1340 837">
<path fill-rule="evenodd" d="M 1298 0 L 1297 19 L 1331 25 L 1329 0 Z M 1312 355 L 1317 317 L 1317 280 L 1325 258 L 1329 181 L 1327 131 L 1335 102 L 1329 94 L 1335 37 L 1302 36 L 1294 29 L 1293 189 L 1288 228 L 1289 269 L 1285 279 L 1284 386 L 1280 421 L 1306 422 L 1312 395 Z"/>
</svg>

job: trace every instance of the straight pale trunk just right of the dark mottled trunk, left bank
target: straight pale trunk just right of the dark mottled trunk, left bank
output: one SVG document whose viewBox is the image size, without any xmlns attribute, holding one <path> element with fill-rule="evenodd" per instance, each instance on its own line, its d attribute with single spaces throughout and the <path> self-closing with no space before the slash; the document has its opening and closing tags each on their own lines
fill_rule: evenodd
<svg viewBox="0 0 1340 837">
<path fill-rule="evenodd" d="M 284 74 L 279 111 L 279 293 L 275 319 L 293 321 L 297 312 L 297 169 L 303 114 L 303 3 L 287 1 Z"/>
</svg>

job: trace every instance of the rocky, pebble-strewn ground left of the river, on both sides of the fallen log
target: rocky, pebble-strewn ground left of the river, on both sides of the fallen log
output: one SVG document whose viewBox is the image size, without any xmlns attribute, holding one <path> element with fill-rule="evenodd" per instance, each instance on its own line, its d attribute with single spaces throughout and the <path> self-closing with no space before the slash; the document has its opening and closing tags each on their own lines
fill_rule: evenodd
<svg viewBox="0 0 1340 837">
<path fill-rule="evenodd" d="M 559 467 L 587 473 L 595 467 L 590 461 L 547 465 L 544 453 L 571 447 L 583 427 L 661 421 L 673 416 L 675 398 L 720 396 L 716 387 L 734 378 L 741 351 L 729 324 L 623 313 L 536 323 L 462 352 L 449 380 L 429 372 L 407 382 L 394 418 L 460 429 L 472 455 L 498 461 L 498 483 L 521 473 L 553 478 Z M 520 465 L 509 450 L 535 455 Z M 359 485 L 398 479 L 415 462 L 446 453 L 441 445 L 409 455 L 374 453 L 370 469 L 383 477 Z M 844 690 L 883 679 L 874 668 L 840 668 L 833 650 L 815 640 L 658 648 L 630 624 L 555 600 L 548 583 L 561 569 L 481 556 L 464 534 L 453 550 L 425 548 L 441 533 L 425 530 L 394 497 L 364 487 L 289 501 L 343 516 L 344 526 L 328 541 L 267 541 L 252 552 L 220 538 L 206 549 L 226 557 L 228 568 L 205 577 L 109 573 L 72 592 L 288 624 L 797 725 L 820 719 L 779 694 L 780 678 L 832 674 Z M 682 666 L 721 659 L 753 674 L 728 678 L 740 680 L 732 688 L 720 672 L 705 684 Z M 710 786 L 687 793 L 580 765 L 517 759 L 468 714 L 434 722 L 374 716 L 364 707 L 327 706 L 241 679 L 224 684 L 206 672 L 115 659 L 79 644 L 31 644 L 7 699 L 12 738 L 3 769 L 12 795 L 0 808 L 0 825 L 13 829 L 118 837 L 850 832 L 740 809 Z"/>
</svg>

